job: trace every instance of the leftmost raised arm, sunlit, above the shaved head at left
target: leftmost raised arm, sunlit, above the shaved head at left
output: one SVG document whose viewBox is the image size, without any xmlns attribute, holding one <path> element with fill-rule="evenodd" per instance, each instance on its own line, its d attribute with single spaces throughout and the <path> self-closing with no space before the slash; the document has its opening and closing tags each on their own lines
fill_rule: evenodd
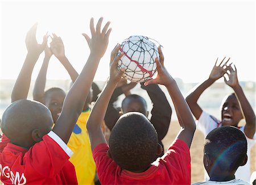
<svg viewBox="0 0 256 185">
<path fill-rule="evenodd" d="M 20 99 L 27 99 L 32 71 L 40 54 L 44 51 L 44 48 L 46 47 L 47 35 L 44 36 L 42 44 L 38 44 L 38 42 L 36 41 L 37 27 L 38 24 L 36 23 L 27 32 L 27 56 L 22 66 L 22 69 L 20 70 L 18 78 L 16 79 L 13 91 L 11 92 L 11 102 L 15 102 L 16 100 Z"/>
</svg>

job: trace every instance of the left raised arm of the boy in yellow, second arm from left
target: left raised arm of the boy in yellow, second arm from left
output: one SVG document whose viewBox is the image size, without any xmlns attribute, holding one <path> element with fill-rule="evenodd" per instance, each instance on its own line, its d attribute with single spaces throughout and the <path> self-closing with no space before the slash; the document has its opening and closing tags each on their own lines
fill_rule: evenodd
<svg viewBox="0 0 256 185">
<path fill-rule="evenodd" d="M 51 49 L 46 45 L 44 49 L 44 61 L 43 65 L 39 71 L 38 77 L 35 81 L 35 86 L 33 90 L 33 99 L 44 103 L 44 89 L 46 87 L 46 74 L 48 69 L 49 60 L 52 56 Z"/>
</svg>

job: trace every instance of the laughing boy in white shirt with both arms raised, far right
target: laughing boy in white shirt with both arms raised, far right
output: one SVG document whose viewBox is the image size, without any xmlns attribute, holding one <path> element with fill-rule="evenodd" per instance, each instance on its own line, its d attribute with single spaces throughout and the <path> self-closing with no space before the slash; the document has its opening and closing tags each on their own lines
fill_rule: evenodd
<svg viewBox="0 0 256 185">
<path fill-rule="evenodd" d="M 218 59 L 217 59 L 218 60 Z M 254 133 L 255 133 L 255 113 L 250 106 L 250 103 L 246 99 L 245 94 L 243 93 L 242 87 L 239 85 L 237 78 L 237 69 L 232 65 L 228 65 L 229 59 L 224 62 L 225 58 L 217 65 L 217 61 L 212 69 L 212 72 L 209 75 L 209 78 L 201 83 L 199 86 L 195 87 L 195 90 L 192 90 L 192 93 L 189 94 L 186 98 L 189 107 L 193 115 L 196 117 L 197 128 L 204 133 L 205 136 L 212 131 L 214 128 L 221 127 L 222 125 L 232 125 L 238 127 L 238 123 L 243 117 L 245 118 L 246 124 L 244 127 L 241 127 L 241 131 L 245 133 L 247 139 L 248 150 L 255 144 Z M 234 93 L 229 95 L 224 99 L 224 104 L 222 105 L 221 110 L 221 121 L 217 120 L 212 115 L 209 115 L 207 112 L 204 112 L 197 100 L 200 95 L 217 79 L 224 77 L 224 74 L 228 75 L 228 79 L 225 79 L 225 83 L 232 87 Z M 247 153 L 248 161 L 245 166 L 238 167 L 236 171 L 236 178 L 245 180 L 249 182 L 250 180 L 250 153 Z"/>
</svg>

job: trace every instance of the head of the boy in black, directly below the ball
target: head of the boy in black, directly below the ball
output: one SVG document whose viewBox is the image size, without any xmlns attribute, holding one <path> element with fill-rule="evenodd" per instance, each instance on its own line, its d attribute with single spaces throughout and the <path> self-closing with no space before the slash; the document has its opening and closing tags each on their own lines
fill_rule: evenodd
<svg viewBox="0 0 256 185">
<path fill-rule="evenodd" d="M 137 94 L 128 95 L 122 101 L 122 112 L 141 112 L 147 117 L 147 102 L 142 96 Z"/>
</svg>

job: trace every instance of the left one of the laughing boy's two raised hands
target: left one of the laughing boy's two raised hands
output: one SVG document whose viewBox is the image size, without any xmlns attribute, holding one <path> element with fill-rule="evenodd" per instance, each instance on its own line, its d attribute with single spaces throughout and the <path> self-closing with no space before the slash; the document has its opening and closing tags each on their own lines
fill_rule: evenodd
<svg viewBox="0 0 256 185">
<path fill-rule="evenodd" d="M 217 79 L 223 77 L 223 75 L 226 73 L 226 67 L 230 58 L 226 62 L 224 62 L 225 58 L 226 57 L 223 58 L 223 60 L 219 65 L 217 65 L 217 61 L 218 61 L 218 58 L 217 58 L 213 66 L 212 72 L 210 72 L 210 75 L 209 75 L 210 79 L 213 79 L 214 81 L 216 81 Z"/>
</svg>

